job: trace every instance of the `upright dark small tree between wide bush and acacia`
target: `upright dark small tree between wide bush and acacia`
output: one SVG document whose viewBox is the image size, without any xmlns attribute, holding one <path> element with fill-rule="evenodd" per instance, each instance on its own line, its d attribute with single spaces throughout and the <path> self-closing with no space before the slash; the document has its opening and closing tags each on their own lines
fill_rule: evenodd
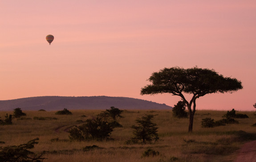
<svg viewBox="0 0 256 162">
<path fill-rule="evenodd" d="M 138 126 L 132 125 L 131 128 L 133 128 L 133 134 L 134 138 L 131 140 L 134 143 L 137 142 L 151 142 L 154 140 L 154 142 L 159 140 L 158 137 L 158 127 L 156 127 L 156 124 L 152 122 L 152 119 L 155 115 L 146 115 L 142 118 L 136 119 L 136 122 L 138 123 Z"/>
</svg>

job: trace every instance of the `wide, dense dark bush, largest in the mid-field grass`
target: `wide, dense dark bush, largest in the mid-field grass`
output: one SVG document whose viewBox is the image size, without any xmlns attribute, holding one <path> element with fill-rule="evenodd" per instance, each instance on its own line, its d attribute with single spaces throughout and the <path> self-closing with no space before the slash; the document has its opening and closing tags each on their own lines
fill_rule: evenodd
<svg viewBox="0 0 256 162">
<path fill-rule="evenodd" d="M 69 139 L 76 141 L 109 139 L 113 127 L 101 118 L 87 119 L 85 124 L 69 130 Z"/>
</svg>

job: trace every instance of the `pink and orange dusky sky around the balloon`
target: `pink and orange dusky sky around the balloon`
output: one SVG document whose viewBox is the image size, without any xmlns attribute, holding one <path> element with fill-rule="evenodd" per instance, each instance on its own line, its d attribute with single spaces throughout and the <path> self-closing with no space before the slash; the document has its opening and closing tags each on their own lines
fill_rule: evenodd
<svg viewBox="0 0 256 162">
<path fill-rule="evenodd" d="M 255 110 L 255 0 L 1 0 L 0 20 L 0 100 L 106 95 L 173 106 L 178 96 L 140 89 L 152 72 L 197 65 L 244 86 L 205 95 L 197 109 Z"/>
</svg>

